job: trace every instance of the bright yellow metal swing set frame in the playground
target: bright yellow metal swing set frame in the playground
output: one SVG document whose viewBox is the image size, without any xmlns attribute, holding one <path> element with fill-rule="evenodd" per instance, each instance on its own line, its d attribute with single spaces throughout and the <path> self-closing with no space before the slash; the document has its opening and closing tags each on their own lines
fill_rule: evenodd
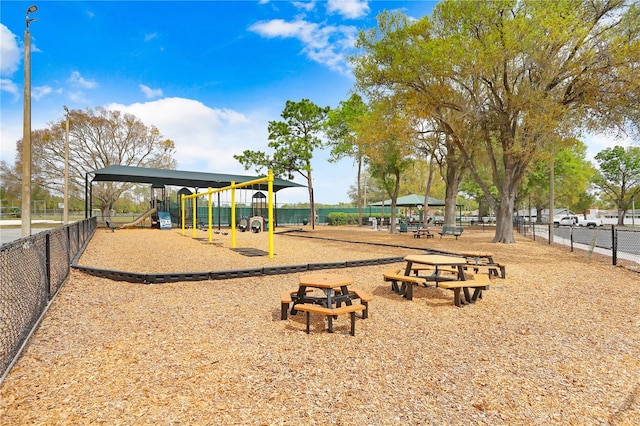
<svg viewBox="0 0 640 426">
<path fill-rule="evenodd" d="M 268 211 L 268 221 L 269 224 L 271 224 L 271 226 L 269 226 L 269 258 L 272 259 L 273 258 L 273 172 L 271 170 L 268 171 L 267 176 L 263 177 L 263 178 L 259 178 L 259 179 L 254 179 L 254 180 L 250 180 L 247 182 L 242 182 L 239 184 L 236 184 L 235 181 L 231 181 L 231 185 L 229 186 L 225 186 L 224 188 L 217 188 L 217 189 L 213 189 L 213 188 L 208 188 L 208 190 L 206 192 L 201 192 L 201 193 L 193 193 L 191 195 L 187 195 L 187 194 L 182 194 L 182 197 L 180 199 L 180 204 L 181 204 L 181 217 L 182 217 L 182 235 L 185 235 L 185 201 L 189 200 L 189 199 L 193 199 L 194 201 L 191 203 L 193 206 L 193 214 L 192 216 L 192 220 L 193 220 L 193 234 L 192 237 L 195 238 L 196 237 L 196 229 L 197 229 L 197 224 L 196 224 L 196 216 L 197 216 L 197 212 L 196 212 L 196 208 L 197 208 L 197 203 L 196 203 L 196 199 L 200 196 L 207 196 L 208 199 L 208 212 L 209 212 L 209 217 L 208 217 L 208 236 L 209 236 L 209 242 L 213 242 L 213 202 L 212 202 L 212 196 L 213 194 L 216 193 L 221 193 L 224 191 L 231 191 L 231 247 L 232 248 L 236 248 L 236 189 L 242 189 L 242 188 L 249 188 L 249 187 L 253 187 L 254 185 L 258 185 L 261 183 L 265 183 L 267 182 L 267 186 L 268 186 L 268 195 L 267 195 L 267 200 L 268 200 L 268 207 L 267 207 L 267 211 Z"/>
</svg>

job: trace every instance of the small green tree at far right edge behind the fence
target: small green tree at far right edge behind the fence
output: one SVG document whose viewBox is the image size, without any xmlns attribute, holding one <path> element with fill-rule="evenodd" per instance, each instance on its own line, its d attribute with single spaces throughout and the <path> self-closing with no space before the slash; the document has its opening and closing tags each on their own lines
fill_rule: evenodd
<svg viewBox="0 0 640 426">
<path fill-rule="evenodd" d="M 640 147 L 615 146 L 600 151 L 595 158 L 600 169 L 595 184 L 615 203 L 618 225 L 624 225 L 632 200 L 640 194 Z"/>
</svg>

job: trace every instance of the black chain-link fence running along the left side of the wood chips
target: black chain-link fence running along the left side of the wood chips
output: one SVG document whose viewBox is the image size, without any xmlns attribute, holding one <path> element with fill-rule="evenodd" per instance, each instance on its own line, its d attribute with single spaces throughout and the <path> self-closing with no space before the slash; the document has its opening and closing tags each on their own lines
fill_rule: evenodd
<svg viewBox="0 0 640 426">
<path fill-rule="evenodd" d="M 96 225 L 93 217 L 0 246 L 0 384 Z"/>
</svg>

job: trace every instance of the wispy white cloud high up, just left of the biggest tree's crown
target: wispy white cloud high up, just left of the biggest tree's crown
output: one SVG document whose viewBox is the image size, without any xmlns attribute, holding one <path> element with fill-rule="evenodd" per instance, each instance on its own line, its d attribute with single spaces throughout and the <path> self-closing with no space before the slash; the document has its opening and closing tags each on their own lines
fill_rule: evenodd
<svg viewBox="0 0 640 426">
<path fill-rule="evenodd" d="M 253 24 L 249 30 L 267 38 L 298 39 L 304 45 L 302 51 L 313 61 L 342 74 L 349 72 L 346 54 L 353 49 L 357 34 L 355 27 L 321 26 L 302 19 L 292 22 L 272 19 Z"/>
</svg>

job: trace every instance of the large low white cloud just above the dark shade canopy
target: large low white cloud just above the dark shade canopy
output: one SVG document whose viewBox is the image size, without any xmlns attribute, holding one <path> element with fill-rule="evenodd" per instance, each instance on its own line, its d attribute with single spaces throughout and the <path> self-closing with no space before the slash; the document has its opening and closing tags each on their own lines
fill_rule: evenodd
<svg viewBox="0 0 640 426">
<path fill-rule="evenodd" d="M 154 125 L 160 133 L 175 142 L 179 170 L 210 173 L 256 175 L 255 169 L 245 170 L 233 158 L 244 150 L 268 154 L 267 124 L 279 112 L 254 111 L 242 113 L 231 109 L 211 108 L 200 101 L 185 98 L 164 98 L 131 105 L 110 104 L 107 109 L 135 115 L 147 126 Z M 314 186 L 316 201 L 333 203 L 346 201 L 348 185 L 353 180 L 350 159 L 328 163 L 328 153 L 314 153 Z M 262 173 L 265 171 L 262 170 Z M 306 182 L 295 176 L 295 181 Z M 343 188 L 344 194 L 336 191 Z M 307 188 L 291 188 L 278 192 L 278 203 L 307 202 Z"/>
</svg>

